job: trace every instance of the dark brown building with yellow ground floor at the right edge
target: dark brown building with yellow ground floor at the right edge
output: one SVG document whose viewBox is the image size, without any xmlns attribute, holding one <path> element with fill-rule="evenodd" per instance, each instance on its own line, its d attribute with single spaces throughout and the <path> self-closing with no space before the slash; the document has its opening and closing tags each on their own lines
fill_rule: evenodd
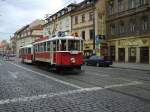
<svg viewBox="0 0 150 112">
<path fill-rule="evenodd" d="M 111 59 L 150 63 L 150 1 L 107 0 L 106 7 Z"/>
</svg>

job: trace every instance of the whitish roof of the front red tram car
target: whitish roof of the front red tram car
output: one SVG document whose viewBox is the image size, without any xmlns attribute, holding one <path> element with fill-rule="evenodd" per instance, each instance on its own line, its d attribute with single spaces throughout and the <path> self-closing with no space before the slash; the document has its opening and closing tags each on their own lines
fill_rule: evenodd
<svg viewBox="0 0 150 112">
<path fill-rule="evenodd" d="M 64 36 L 64 37 L 56 36 L 56 37 L 51 37 L 51 38 L 46 39 L 46 40 L 35 42 L 33 44 L 38 44 L 38 43 L 53 41 L 53 40 L 82 40 L 82 38 L 81 37 L 74 37 L 74 36 Z"/>
</svg>

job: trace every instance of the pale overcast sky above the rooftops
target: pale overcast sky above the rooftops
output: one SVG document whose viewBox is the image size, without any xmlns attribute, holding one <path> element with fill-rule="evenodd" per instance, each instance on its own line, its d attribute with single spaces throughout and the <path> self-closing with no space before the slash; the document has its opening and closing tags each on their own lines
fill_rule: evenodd
<svg viewBox="0 0 150 112">
<path fill-rule="evenodd" d="M 69 3 L 83 0 L 0 0 L 0 41 L 35 19 L 44 19 Z"/>
</svg>

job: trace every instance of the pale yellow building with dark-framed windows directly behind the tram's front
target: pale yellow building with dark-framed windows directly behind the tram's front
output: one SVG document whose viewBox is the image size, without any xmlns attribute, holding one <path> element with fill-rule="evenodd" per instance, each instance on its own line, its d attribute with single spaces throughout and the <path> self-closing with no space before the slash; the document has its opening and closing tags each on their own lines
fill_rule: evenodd
<svg viewBox="0 0 150 112">
<path fill-rule="evenodd" d="M 84 39 L 84 55 L 93 53 L 94 39 L 94 11 L 95 6 L 92 1 L 84 0 L 71 13 L 72 34 L 77 33 Z"/>
</svg>

